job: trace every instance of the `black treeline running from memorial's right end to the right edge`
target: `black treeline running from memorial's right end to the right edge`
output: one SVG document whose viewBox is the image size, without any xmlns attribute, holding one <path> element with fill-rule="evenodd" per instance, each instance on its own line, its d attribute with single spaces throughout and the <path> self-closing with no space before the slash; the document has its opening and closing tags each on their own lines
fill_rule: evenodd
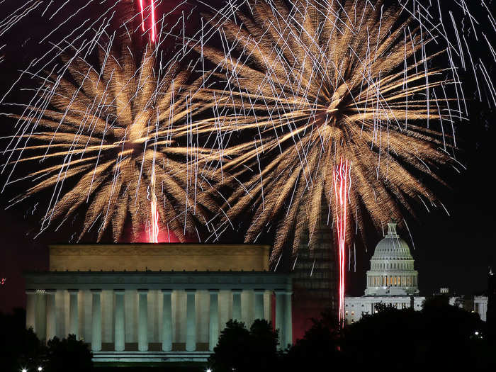
<svg viewBox="0 0 496 372">
<path fill-rule="evenodd" d="M 278 351 L 278 334 L 265 320 L 248 330 L 229 322 L 209 361 L 213 372 L 332 371 L 496 371 L 496 344 L 485 322 L 451 306 L 443 296 L 429 298 L 422 311 L 378 305 L 377 312 L 339 329 L 323 314 L 293 346 Z"/>
</svg>

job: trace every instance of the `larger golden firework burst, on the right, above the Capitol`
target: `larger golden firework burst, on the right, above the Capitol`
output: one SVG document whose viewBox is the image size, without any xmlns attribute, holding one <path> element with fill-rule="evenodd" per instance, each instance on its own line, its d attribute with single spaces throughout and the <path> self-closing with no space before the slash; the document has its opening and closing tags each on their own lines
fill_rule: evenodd
<svg viewBox="0 0 496 372">
<path fill-rule="evenodd" d="M 225 210 L 228 218 L 253 211 L 247 242 L 276 220 L 273 260 L 291 242 L 294 253 L 305 230 L 311 247 L 321 210 L 331 225 L 340 208 L 340 159 L 353 181 L 349 223 L 337 225 L 347 226 L 343 244 L 351 226 L 363 232 L 364 215 L 380 229 L 413 213 L 412 201 L 435 200 L 421 179 L 443 182 L 434 170 L 454 162 L 453 122 L 463 118 L 456 68 L 445 62 L 453 45 L 441 46 L 439 28 L 382 1 L 233 9 L 209 17 L 224 48 L 197 50 L 216 66 L 210 93 L 222 130 L 242 139 L 225 150 L 224 169 L 252 171 Z"/>
</svg>

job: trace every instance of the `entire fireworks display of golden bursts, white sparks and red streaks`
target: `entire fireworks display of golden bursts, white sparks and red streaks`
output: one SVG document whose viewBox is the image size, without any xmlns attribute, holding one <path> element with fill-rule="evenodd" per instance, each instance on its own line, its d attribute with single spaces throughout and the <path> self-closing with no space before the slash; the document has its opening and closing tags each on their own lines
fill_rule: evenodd
<svg viewBox="0 0 496 372">
<path fill-rule="evenodd" d="M 496 22 L 477 3 L 6 1 L 0 64 L 29 19 L 46 26 L 0 91 L 3 192 L 26 190 L 6 207 L 41 203 L 40 233 L 82 213 L 79 238 L 118 241 L 126 223 L 151 242 L 269 235 L 274 266 L 325 224 L 342 300 L 366 219 L 444 208 L 431 186 L 463 169 L 466 79 L 496 105 Z"/>
</svg>

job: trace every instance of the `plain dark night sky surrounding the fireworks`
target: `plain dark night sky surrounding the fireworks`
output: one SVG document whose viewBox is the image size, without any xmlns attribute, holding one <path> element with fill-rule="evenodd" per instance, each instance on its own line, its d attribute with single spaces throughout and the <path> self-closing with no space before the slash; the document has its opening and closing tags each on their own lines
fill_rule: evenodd
<svg viewBox="0 0 496 372">
<path fill-rule="evenodd" d="M 166 8 L 173 9 L 172 3 L 179 2 L 165 1 L 162 4 L 162 11 Z M 496 14 L 495 1 L 485 2 L 493 10 L 492 13 Z M 6 3 L 2 6 L 6 10 L 5 13 L 9 13 L 9 8 L 14 8 L 11 4 L 16 1 L 8 0 Z M 184 9 L 191 10 L 191 7 L 184 5 Z M 69 9 L 68 6 L 65 11 L 70 14 L 74 10 Z M 181 9 L 169 17 L 178 16 L 180 11 Z M 198 17 L 192 16 L 188 27 L 194 29 L 197 21 Z M 39 14 L 32 13 L 15 28 L 0 36 L 1 96 L 18 77 L 18 70 L 26 68 L 33 57 L 45 50 L 47 45 L 38 44 L 38 39 L 39 35 L 46 35 L 50 27 Z M 491 26 L 487 24 L 487 27 Z M 60 32 L 67 33 L 67 30 Z M 6 47 L 2 49 L 2 45 Z M 487 70 L 491 77 L 495 77 L 494 60 L 489 58 L 488 51 L 486 54 Z M 2 55 L 4 60 L 1 59 Z M 486 99 L 483 103 L 474 99 L 477 98 L 474 81 L 470 79 L 470 74 L 466 76 L 470 120 L 458 125 L 456 131 L 458 160 L 466 165 L 467 170 L 461 174 L 446 169 L 441 171 L 449 187 L 440 187 L 438 193 L 450 215 L 446 215 L 442 208 L 429 208 L 430 212 L 427 213 L 422 207 L 418 210 L 417 220 L 407 218 L 415 243 L 412 255 L 415 259 L 415 268 L 419 271 L 419 288 L 423 295 L 433 293 L 439 287 L 449 287 L 456 293 L 466 295 L 482 293 L 486 289 L 488 266 L 496 259 L 495 182 L 493 181 L 496 169 L 496 111 L 488 105 Z M 31 86 L 35 84 L 33 80 L 21 82 Z M 26 101 L 26 93 L 15 90 L 9 98 L 10 102 Z M 6 109 L 0 108 L 0 111 L 4 112 Z M 0 123 L 1 136 L 13 132 L 11 120 L 0 116 Z M 4 142 L 0 142 L 0 150 L 4 148 Z M 1 164 L 4 164 L 5 159 L 5 157 L 1 158 Z M 6 174 L 0 175 L 0 186 L 4 185 L 5 176 Z M 0 277 L 6 278 L 5 283 L 0 286 L 0 311 L 9 311 L 11 308 L 24 305 L 22 272 L 47 269 L 47 244 L 68 242 L 74 237 L 74 233 L 79 234 L 80 227 L 76 221 L 65 225 L 58 232 L 52 228 L 34 238 L 39 231 L 40 213 L 45 211 L 43 208 L 34 209 L 34 205 L 38 201 L 43 202 L 46 195 L 39 195 L 36 197 L 39 198 L 38 200 L 33 198 L 29 203 L 5 210 L 9 205 L 9 199 L 26 188 L 28 188 L 27 184 L 19 183 L 9 186 L 0 194 Z M 402 230 L 400 234 L 412 247 L 408 233 Z M 351 272 L 347 274 L 349 279 L 346 292 L 349 295 L 363 294 L 365 271 L 369 269 L 368 260 L 373 253 L 373 247 L 381 237 L 381 232 L 371 232 L 366 242 L 357 240 L 356 272 L 351 262 Z M 242 235 L 232 232 L 226 235 L 224 242 L 240 243 Z"/>
</svg>

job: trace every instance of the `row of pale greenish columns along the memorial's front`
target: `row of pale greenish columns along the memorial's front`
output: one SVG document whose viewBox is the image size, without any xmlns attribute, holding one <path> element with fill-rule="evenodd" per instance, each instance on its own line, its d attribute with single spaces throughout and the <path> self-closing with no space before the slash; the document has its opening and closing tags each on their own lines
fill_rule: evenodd
<svg viewBox="0 0 496 372">
<path fill-rule="evenodd" d="M 94 352 L 111 343 L 115 351 L 148 351 L 160 348 L 159 343 L 162 351 L 173 351 L 183 342 L 186 351 L 203 347 L 213 351 L 230 318 L 249 327 L 252 320 L 268 319 L 271 314 L 266 298 L 271 289 L 217 284 L 214 282 L 212 289 L 186 290 L 171 286 L 162 290 L 86 287 L 27 291 L 26 326 L 33 327 L 40 339 L 67 334 L 84 337 Z M 235 286 L 242 289 L 232 289 Z M 157 303 L 157 295 L 162 303 Z M 276 290 L 274 323 L 281 347 L 291 344 L 291 292 L 283 288 Z"/>
</svg>

